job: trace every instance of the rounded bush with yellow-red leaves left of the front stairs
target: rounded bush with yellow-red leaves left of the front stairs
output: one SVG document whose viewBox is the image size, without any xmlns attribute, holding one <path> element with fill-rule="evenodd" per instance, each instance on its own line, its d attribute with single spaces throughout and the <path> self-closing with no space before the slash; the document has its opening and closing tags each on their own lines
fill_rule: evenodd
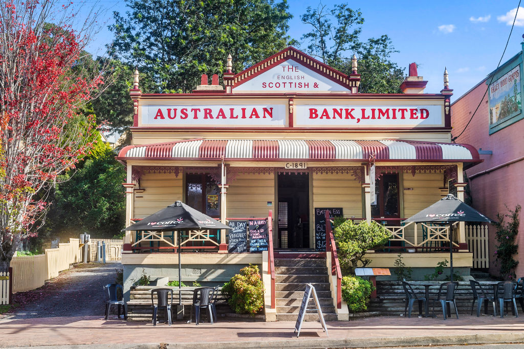
<svg viewBox="0 0 524 349">
<path fill-rule="evenodd" d="M 224 284 L 222 294 L 237 314 L 256 314 L 264 307 L 264 284 L 258 266 L 250 264 L 240 269 L 240 274 Z"/>
</svg>

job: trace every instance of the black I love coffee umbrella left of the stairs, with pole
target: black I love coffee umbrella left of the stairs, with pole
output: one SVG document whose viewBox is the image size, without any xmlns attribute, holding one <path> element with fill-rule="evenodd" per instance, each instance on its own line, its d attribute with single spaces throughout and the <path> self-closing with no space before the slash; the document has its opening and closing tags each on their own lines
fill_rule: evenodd
<svg viewBox="0 0 524 349">
<path fill-rule="evenodd" d="M 188 229 L 230 229 L 230 227 L 204 213 L 177 201 L 143 220 L 132 224 L 124 230 L 171 231 Z M 178 235 L 178 302 L 182 304 L 180 259 L 180 234 Z"/>
</svg>

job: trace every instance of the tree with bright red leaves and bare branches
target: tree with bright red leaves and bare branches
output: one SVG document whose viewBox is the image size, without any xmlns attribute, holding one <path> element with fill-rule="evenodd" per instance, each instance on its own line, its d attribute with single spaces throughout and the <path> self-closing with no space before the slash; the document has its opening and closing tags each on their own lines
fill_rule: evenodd
<svg viewBox="0 0 524 349">
<path fill-rule="evenodd" d="M 97 132 L 80 110 L 100 92 L 103 70 L 78 67 L 95 19 L 78 26 L 70 6 L 0 0 L 0 272 L 42 224 L 53 181 Z"/>
</svg>

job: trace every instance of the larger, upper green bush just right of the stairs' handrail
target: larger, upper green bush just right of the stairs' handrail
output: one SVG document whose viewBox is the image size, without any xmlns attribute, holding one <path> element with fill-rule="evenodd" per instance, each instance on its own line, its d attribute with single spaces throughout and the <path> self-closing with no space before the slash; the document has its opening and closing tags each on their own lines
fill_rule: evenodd
<svg viewBox="0 0 524 349">
<path fill-rule="evenodd" d="M 364 258 L 366 251 L 384 245 L 391 237 L 377 222 L 362 221 L 355 224 L 351 220 L 336 227 L 334 235 L 340 266 L 346 275 L 354 274 L 358 266 L 368 265 L 371 260 Z"/>
</svg>

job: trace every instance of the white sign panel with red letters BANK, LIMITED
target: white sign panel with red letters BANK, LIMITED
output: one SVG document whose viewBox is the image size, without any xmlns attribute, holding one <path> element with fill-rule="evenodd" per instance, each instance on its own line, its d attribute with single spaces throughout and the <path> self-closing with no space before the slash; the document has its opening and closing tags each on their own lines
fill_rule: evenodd
<svg viewBox="0 0 524 349">
<path fill-rule="evenodd" d="M 443 126 L 440 105 L 295 105 L 296 127 L 431 127 Z"/>
</svg>

